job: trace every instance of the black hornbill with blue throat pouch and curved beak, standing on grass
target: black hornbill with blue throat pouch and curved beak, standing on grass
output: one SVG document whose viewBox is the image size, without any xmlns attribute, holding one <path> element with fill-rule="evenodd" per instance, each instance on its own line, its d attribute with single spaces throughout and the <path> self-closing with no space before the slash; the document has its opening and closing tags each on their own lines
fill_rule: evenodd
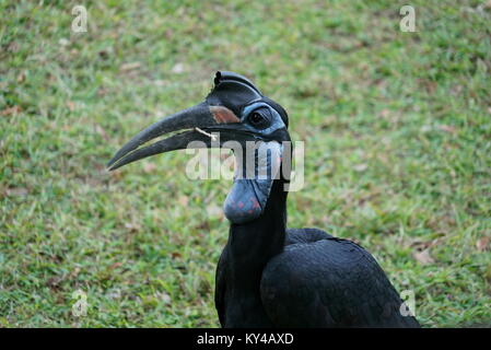
<svg viewBox="0 0 491 350">
<path fill-rule="evenodd" d="M 287 229 L 288 125 L 283 107 L 248 79 L 219 71 L 204 102 L 142 130 L 108 167 L 191 144 L 233 149 L 234 184 L 223 207 L 231 226 L 214 296 L 223 327 L 419 327 L 413 316 L 401 314 L 402 300 L 363 247 L 317 229 Z M 141 147 L 174 131 L 179 132 Z M 220 141 L 213 142 L 213 135 Z M 236 154 L 234 142 L 254 142 L 254 156 Z M 261 147 L 267 152 L 258 152 Z M 246 159 L 256 168 L 241 176 Z M 280 167 L 274 170 L 274 162 Z M 267 175 L 259 176 L 258 168 Z"/>
</svg>

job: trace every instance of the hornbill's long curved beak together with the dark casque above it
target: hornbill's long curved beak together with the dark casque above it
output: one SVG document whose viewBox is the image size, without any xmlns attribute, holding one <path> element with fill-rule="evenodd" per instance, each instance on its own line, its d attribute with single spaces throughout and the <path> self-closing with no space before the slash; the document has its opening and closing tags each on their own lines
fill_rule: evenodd
<svg viewBox="0 0 491 350">
<path fill-rule="evenodd" d="M 259 90 L 246 78 L 219 71 L 214 88 L 206 101 L 190 108 L 165 117 L 140 131 L 127 142 L 107 163 L 114 171 L 131 162 L 159 153 L 186 149 L 191 141 L 212 147 L 211 132 L 220 132 L 220 144 L 230 140 L 257 140 L 258 136 L 242 127 L 241 112 L 250 102 L 262 98 Z M 182 131 L 148 147 L 143 143 L 160 136 Z"/>
</svg>

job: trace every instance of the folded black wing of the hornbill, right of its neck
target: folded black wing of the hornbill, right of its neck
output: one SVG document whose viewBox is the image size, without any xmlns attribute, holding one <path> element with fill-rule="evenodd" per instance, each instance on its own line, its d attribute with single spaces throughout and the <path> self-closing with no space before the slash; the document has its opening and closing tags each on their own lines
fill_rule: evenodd
<svg viewBox="0 0 491 350">
<path fill-rule="evenodd" d="M 361 246 L 328 237 L 285 246 L 266 266 L 261 300 L 283 327 L 419 327 L 375 259 Z"/>
</svg>

